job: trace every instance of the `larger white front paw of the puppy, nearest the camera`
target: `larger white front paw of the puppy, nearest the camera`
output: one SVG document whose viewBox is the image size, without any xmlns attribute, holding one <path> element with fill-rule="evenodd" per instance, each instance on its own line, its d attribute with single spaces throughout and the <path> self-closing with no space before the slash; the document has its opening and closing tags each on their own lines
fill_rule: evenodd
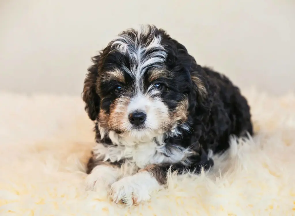
<svg viewBox="0 0 295 216">
<path fill-rule="evenodd" d="M 123 202 L 127 206 L 145 202 L 152 192 L 161 188 L 158 181 L 148 172 L 142 171 L 116 181 L 111 186 L 111 197 L 115 203 Z"/>
</svg>

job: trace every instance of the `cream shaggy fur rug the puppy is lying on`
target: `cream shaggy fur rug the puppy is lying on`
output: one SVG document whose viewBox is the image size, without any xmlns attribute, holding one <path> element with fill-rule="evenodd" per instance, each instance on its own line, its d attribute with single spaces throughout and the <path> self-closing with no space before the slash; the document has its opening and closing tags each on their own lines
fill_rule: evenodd
<svg viewBox="0 0 295 216">
<path fill-rule="evenodd" d="M 124 208 L 84 190 L 94 133 L 80 97 L 1 93 L 0 215 L 294 215 L 295 96 L 244 95 L 256 136 Z"/>
</svg>

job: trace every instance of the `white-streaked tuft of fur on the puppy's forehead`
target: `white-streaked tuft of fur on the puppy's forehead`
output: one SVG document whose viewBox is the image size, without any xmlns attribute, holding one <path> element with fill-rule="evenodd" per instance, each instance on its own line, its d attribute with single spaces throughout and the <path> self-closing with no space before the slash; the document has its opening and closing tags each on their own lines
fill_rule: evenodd
<svg viewBox="0 0 295 216">
<path fill-rule="evenodd" d="M 142 25 L 138 30 L 129 29 L 122 32 L 111 42 L 111 48 L 124 53 L 130 59 L 127 70 L 130 76 L 140 80 L 149 66 L 161 66 L 167 58 L 162 35 L 156 34 L 156 27 Z M 112 51 L 111 51 L 112 52 Z"/>
</svg>

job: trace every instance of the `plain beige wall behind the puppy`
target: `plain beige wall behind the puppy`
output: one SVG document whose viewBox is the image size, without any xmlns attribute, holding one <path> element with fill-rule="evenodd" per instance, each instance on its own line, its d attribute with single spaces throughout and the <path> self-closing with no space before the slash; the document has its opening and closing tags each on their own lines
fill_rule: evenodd
<svg viewBox="0 0 295 216">
<path fill-rule="evenodd" d="M 294 0 L 1 0 L 0 90 L 80 94 L 90 57 L 140 23 L 242 88 L 295 92 Z"/>
</svg>

